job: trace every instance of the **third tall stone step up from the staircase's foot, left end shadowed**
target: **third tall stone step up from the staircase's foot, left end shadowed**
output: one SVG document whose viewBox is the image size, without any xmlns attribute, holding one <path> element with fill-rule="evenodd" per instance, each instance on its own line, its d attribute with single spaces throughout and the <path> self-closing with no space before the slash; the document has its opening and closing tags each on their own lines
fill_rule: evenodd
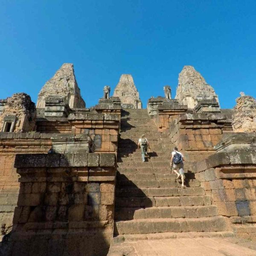
<svg viewBox="0 0 256 256">
<path fill-rule="evenodd" d="M 116 207 L 161 207 L 161 206 L 203 206 L 211 205 L 211 197 L 170 196 L 170 197 L 117 197 Z"/>
</svg>

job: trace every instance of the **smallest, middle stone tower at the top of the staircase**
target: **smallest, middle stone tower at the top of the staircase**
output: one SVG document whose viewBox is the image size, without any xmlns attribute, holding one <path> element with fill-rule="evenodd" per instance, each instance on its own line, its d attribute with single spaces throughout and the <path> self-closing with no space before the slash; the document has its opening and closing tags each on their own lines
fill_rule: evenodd
<svg viewBox="0 0 256 256">
<path fill-rule="evenodd" d="M 114 97 L 119 97 L 122 108 L 142 108 L 139 92 L 131 75 L 123 74 L 116 85 Z"/>
</svg>

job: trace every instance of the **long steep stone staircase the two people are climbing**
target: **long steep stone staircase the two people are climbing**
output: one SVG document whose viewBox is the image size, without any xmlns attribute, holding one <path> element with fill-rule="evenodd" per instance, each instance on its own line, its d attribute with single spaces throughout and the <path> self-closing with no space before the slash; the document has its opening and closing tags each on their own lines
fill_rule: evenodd
<svg viewBox="0 0 256 256">
<path fill-rule="evenodd" d="M 142 162 L 137 142 L 145 134 L 150 157 Z M 122 111 L 118 142 L 115 240 L 172 237 L 177 233 L 230 236 L 225 218 L 211 205 L 193 173 L 186 173 L 186 188 L 170 172 L 173 145 L 157 131 L 145 109 Z M 186 170 L 185 170 L 186 172 Z"/>
</svg>

